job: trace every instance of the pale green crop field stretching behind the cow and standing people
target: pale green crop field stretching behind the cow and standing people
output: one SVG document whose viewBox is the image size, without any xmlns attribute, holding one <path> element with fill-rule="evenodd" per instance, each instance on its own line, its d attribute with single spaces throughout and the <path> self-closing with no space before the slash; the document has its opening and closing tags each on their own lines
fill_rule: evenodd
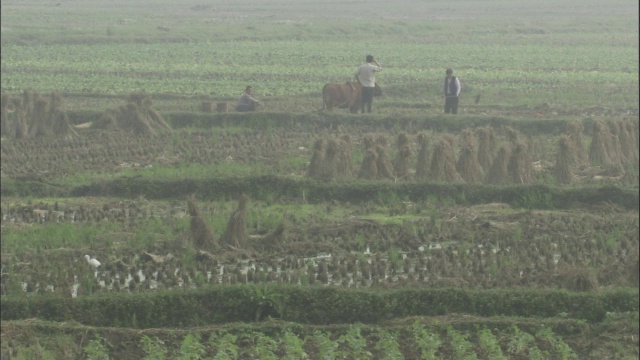
<svg viewBox="0 0 640 360">
<path fill-rule="evenodd" d="M 444 46 L 444 49 L 443 49 Z M 121 94 L 236 96 L 243 84 L 256 84 L 262 96 L 317 94 L 326 82 L 353 77 L 365 45 L 323 41 L 222 42 L 216 44 L 4 45 L 2 88 Z M 592 92 L 611 96 L 636 93 L 637 49 L 537 44 L 518 46 L 380 44 L 377 56 L 387 87 L 440 91 L 438 54 L 455 52 L 463 91 L 500 93 Z M 256 54 L 260 61 L 256 62 Z M 322 54 L 322 55 L 321 55 Z M 619 80 L 612 80 L 619 79 Z M 423 95 L 424 96 L 424 95 Z M 595 98 L 594 98 L 595 99 Z"/>
</svg>

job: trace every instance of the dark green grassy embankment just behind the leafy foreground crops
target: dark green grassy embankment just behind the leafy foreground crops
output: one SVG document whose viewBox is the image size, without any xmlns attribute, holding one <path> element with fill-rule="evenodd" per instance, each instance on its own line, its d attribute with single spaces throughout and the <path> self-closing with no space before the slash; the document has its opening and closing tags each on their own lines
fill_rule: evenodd
<svg viewBox="0 0 640 360">
<path fill-rule="evenodd" d="M 637 289 L 571 293 L 564 290 L 354 290 L 300 286 L 214 286 L 199 290 L 2 298 L 2 319 L 37 317 L 94 326 L 185 327 L 251 322 L 267 316 L 302 324 L 380 323 L 407 316 L 469 314 L 545 318 L 559 314 L 599 322 L 607 312 L 638 311 Z"/>
</svg>

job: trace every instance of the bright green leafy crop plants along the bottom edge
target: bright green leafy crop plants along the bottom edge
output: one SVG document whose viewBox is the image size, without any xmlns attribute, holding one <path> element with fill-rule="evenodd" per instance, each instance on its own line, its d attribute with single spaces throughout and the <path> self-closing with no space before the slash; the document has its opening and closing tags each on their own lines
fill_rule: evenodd
<svg viewBox="0 0 640 360">
<path fill-rule="evenodd" d="M 455 318 L 454 318 L 455 320 Z M 552 322 L 553 323 L 553 322 Z M 605 356 L 604 349 L 587 349 L 576 336 L 588 331 L 579 322 L 545 325 L 520 324 L 505 321 L 497 327 L 464 323 L 445 325 L 438 321 L 422 323 L 415 320 L 404 326 L 301 328 L 274 323 L 269 333 L 251 327 L 187 332 L 167 336 L 160 331 L 145 331 L 129 335 L 133 344 L 128 353 L 110 345 L 126 334 L 108 333 L 94 328 L 82 346 L 66 348 L 93 359 L 578 359 Z M 46 330 L 47 323 L 34 323 L 31 331 Z M 14 328 L 15 327 L 15 328 Z M 571 329 L 573 327 L 573 329 Z M 18 331 L 24 325 L 3 324 L 3 331 Z M 565 332 L 573 344 L 567 343 L 554 329 Z M 85 333 L 86 334 L 86 333 Z M 66 344 L 65 344 L 66 345 Z M 18 359 L 37 356 L 54 359 L 62 352 L 58 343 L 36 343 L 19 351 L 7 350 Z M 615 351 L 613 352 L 616 353 Z M 618 358 L 632 354 L 617 353 Z"/>
</svg>

